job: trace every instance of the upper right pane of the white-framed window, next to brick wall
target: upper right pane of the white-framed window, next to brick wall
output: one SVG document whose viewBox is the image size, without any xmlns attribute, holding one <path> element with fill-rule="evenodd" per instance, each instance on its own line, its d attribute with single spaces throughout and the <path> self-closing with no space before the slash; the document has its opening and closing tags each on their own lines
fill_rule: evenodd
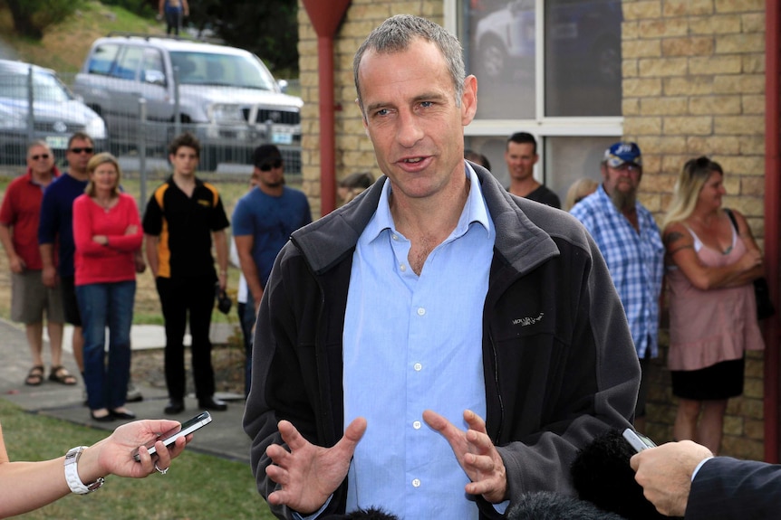
<svg viewBox="0 0 781 520">
<path fill-rule="evenodd" d="M 545 116 L 621 116 L 621 0 L 545 1 Z"/>
</svg>

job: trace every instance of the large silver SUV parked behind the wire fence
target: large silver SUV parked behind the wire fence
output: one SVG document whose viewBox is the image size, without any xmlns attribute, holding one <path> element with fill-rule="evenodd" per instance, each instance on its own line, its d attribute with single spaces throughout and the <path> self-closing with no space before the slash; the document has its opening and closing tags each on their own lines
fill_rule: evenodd
<svg viewBox="0 0 781 520">
<path fill-rule="evenodd" d="M 209 170 L 223 162 L 248 165 L 255 147 L 274 143 L 285 170 L 300 171 L 304 103 L 284 94 L 251 52 L 111 33 L 92 43 L 73 90 L 106 121 L 115 153 L 143 144 L 165 154 L 175 132 L 189 130 L 200 139 L 201 167 Z"/>
</svg>

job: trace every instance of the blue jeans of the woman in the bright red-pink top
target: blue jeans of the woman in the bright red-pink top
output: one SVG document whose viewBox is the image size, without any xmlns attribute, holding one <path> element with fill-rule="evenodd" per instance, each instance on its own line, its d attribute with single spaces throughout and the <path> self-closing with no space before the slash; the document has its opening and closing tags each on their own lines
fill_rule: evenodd
<svg viewBox="0 0 781 520">
<path fill-rule="evenodd" d="M 84 383 L 91 410 L 115 410 L 125 404 L 135 296 L 135 280 L 76 286 L 84 333 Z M 108 364 L 105 363 L 107 326 Z"/>
</svg>

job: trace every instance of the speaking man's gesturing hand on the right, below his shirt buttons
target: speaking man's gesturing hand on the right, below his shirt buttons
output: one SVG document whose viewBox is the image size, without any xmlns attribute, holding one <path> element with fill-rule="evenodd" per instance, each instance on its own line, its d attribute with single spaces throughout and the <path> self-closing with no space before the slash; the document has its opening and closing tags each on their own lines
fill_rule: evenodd
<svg viewBox="0 0 781 520">
<path fill-rule="evenodd" d="M 465 487 L 469 495 L 482 495 L 492 504 L 506 499 L 505 463 L 488 437 L 485 421 L 470 410 L 464 411 L 467 431 L 458 430 L 435 411 L 424 411 L 423 420 L 450 443 L 458 464 L 471 480 Z"/>
</svg>

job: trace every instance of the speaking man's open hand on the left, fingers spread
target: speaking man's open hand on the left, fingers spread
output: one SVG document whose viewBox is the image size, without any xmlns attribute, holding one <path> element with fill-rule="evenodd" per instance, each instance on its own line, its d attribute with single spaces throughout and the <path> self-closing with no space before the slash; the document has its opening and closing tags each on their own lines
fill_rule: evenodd
<svg viewBox="0 0 781 520">
<path fill-rule="evenodd" d="M 366 420 L 359 417 L 352 421 L 333 448 L 305 440 L 289 421 L 279 421 L 278 427 L 290 451 L 278 444 L 265 449 L 274 462 L 265 468 L 265 474 L 282 487 L 268 496 L 268 502 L 311 515 L 347 477 L 352 454 L 366 431 Z"/>
</svg>

